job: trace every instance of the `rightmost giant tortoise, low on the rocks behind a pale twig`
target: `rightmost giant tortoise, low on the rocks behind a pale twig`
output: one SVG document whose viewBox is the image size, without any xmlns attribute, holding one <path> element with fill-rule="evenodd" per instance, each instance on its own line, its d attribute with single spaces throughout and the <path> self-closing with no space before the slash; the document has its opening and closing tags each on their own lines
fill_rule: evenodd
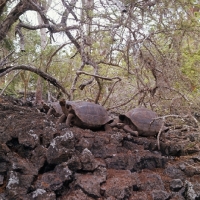
<svg viewBox="0 0 200 200">
<path fill-rule="evenodd" d="M 147 108 L 134 108 L 124 115 L 119 115 L 118 123 L 112 123 L 112 126 L 117 124 L 126 132 L 134 136 L 154 136 L 159 133 L 162 127 L 162 120 L 156 119 L 158 115 Z M 166 127 L 162 131 L 167 130 Z"/>
</svg>

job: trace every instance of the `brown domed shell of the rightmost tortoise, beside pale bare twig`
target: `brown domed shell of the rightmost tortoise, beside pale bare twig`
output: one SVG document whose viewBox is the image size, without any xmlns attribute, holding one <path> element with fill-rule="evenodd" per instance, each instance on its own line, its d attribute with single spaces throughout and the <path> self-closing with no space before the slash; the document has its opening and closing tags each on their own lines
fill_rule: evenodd
<svg viewBox="0 0 200 200">
<path fill-rule="evenodd" d="M 123 116 L 131 120 L 141 135 L 155 135 L 162 126 L 161 120 L 154 120 L 158 117 L 157 113 L 147 108 L 134 108 L 120 117 L 123 118 Z"/>
</svg>

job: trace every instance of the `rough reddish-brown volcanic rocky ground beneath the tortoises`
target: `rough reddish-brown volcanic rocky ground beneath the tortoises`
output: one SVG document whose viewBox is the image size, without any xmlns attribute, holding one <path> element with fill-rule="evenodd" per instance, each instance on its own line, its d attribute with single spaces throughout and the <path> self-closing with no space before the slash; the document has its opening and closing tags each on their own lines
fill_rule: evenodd
<svg viewBox="0 0 200 200">
<path fill-rule="evenodd" d="M 200 199 L 198 129 L 156 138 L 56 127 L 31 104 L 0 97 L 0 200 Z"/>
</svg>

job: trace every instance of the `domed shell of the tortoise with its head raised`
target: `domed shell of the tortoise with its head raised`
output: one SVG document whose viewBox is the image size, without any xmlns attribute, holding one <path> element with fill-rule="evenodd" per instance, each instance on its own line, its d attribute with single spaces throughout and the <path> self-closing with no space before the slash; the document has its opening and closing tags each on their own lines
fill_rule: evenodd
<svg viewBox="0 0 200 200">
<path fill-rule="evenodd" d="M 66 106 L 68 105 L 72 107 L 70 112 L 73 112 L 85 126 L 98 127 L 111 121 L 106 109 L 101 105 L 87 101 L 68 101 Z"/>
</svg>

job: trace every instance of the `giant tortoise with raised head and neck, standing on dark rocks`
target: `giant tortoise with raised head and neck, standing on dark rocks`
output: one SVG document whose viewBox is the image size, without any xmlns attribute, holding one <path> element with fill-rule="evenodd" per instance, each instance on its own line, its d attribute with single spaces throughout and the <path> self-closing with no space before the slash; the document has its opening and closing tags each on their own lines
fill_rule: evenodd
<svg viewBox="0 0 200 200">
<path fill-rule="evenodd" d="M 106 131 L 111 130 L 109 123 L 112 120 L 109 118 L 106 109 L 101 105 L 87 101 L 74 102 L 63 99 L 60 101 L 60 106 L 67 117 L 67 127 L 78 126 L 91 130 L 104 127 Z"/>
</svg>

